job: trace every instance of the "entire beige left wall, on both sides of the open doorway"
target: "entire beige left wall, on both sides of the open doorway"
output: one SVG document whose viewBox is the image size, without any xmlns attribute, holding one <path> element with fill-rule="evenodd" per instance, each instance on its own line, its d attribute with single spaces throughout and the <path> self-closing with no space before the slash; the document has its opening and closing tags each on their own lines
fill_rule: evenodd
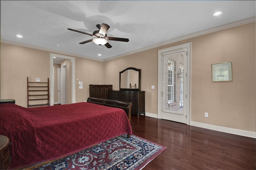
<svg viewBox="0 0 256 170">
<path fill-rule="evenodd" d="M 27 76 L 30 80 L 41 78 L 42 82 L 47 81 L 50 77 L 50 52 L 1 43 L 0 57 L 0 98 L 15 99 L 17 105 L 27 107 Z M 84 102 L 89 97 L 89 84 L 104 83 L 103 62 L 75 58 L 76 79 L 84 82 L 83 89 L 78 89 L 76 82 L 76 102 Z"/>
</svg>

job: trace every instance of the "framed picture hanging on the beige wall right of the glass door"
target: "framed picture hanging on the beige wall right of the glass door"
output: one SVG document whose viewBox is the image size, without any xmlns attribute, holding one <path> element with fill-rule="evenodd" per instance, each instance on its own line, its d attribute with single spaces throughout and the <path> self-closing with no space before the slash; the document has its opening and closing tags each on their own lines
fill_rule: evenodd
<svg viewBox="0 0 256 170">
<path fill-rule="evenodd" d="M 212 64 L 212 81 L 232 81 L 232 62 Z"/>
</svg>

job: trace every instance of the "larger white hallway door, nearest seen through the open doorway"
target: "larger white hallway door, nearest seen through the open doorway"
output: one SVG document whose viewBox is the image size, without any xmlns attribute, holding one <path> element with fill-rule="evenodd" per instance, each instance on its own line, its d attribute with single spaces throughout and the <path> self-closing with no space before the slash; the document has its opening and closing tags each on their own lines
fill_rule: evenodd
<svg viewBox="0 0 256 170">
<path fill-rule="evenodd" d="M 61 104 L 67 104 L 67 63 L 61 64 Z"/>
</svg>

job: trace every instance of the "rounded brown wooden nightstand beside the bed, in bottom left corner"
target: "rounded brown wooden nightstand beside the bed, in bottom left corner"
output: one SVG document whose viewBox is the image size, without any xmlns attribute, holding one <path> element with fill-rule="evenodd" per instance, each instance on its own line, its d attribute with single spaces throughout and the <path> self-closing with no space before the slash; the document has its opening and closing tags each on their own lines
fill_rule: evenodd
<svg viewBox="0 0 256 170">
<path fill-rule="evenodd" d="M 9 138 L 0 135 L 0 169 L 6 170 L 11 165 L 11 157 L 10 157 L 10 141 Z"/>
</svg>

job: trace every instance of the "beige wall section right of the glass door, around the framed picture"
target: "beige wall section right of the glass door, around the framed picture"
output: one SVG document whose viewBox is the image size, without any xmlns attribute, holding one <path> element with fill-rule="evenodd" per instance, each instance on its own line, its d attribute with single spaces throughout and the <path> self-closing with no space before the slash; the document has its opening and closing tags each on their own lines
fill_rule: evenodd
<svg viewBox="0 0 256 170">
<path fill-rule="evenodd" d="M 192 121 L 255 131 L 255 36 L 254 22 L 193 39 Z M 222 62 L 232 62 L 233 81 L 212 82 L 211 64 Z"/>
</svg>

